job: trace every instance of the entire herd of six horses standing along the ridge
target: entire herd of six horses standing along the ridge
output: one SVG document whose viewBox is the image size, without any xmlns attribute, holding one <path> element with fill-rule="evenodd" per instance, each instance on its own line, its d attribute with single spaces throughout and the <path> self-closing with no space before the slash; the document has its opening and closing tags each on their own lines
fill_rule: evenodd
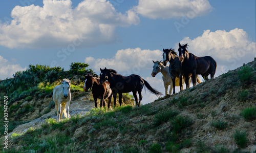
<svg viewBox="0 0 256 153">
<path fill-rule="evenodd" d="M 167 95 L 167 88 L 170 85 L 169 94 L 173 89 L 175 94 L 175 86 L 180 86 L 180 90 L 183 90 L 183 84 L 185 82 L 186 89 L 189 88 L 190 81 L 193 85 L 201 83 L 198 75 L 202 75 L 204 79 L 208 79 L 208 75 L 214 78 L 217 62 L 210 56 L 197 57 L 187 51 L 187 43 L 181 45 L 179 43 L 178 53 L 172 49 L 163 49 L 163 62 L 153 61 L 152 76 L 155 77 L 157 73 L 163 74 L 163 82 L 165 88 L 165 95 Z M 169 62 L 169 65 L 167 65 Z M 105 106 L 105 99 L 108 98 L 108 107 L 113 97 L 114 106 L 116 106 L 117 94 L 119 96 L 119 105 L 122 104 L 122 93 L 133 93 L 136 106 L 140 106 L 142 100 L 142 89 L 145 85 L 146 89 L 151 93 L 161 96 L 162 93 L 152 88 L 152 86 L 139 75 L 132 74 L 130 76 L 122 76 L 117 74 L 112 69 L 101 69 L 100 76 L 92 76 L 90 74 L 84 75 L 86 80 L 84 81 L 83 91 L 88 92 L 91 89 L 93 98 L 95 101 L 95 107 L 97 108 L 97 99 L 100 99 L 100 107 Z M 139 98 L 137 97 L 137 93 Z M 55 86 L 53 90 L 53 101 L 57 111 L 58 121 L 61 120 L 62 114 L 66 118 L 70 118 L 69 104 L 71 100 L 70 92 L 70 80 L 63 79 L 60 85 Z M 67 108 L 66 108 L 67 107 Z M 67 113 L 68 112 L 68 113 Z"/>
</svg>

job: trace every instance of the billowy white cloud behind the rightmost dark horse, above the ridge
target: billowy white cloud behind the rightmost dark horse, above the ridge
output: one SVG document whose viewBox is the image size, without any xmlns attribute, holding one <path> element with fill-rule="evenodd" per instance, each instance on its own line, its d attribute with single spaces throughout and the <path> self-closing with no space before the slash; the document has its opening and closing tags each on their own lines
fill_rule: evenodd
<svg viewBox="0 0 256 153">
<path fill-rule="evenodd" d="M 175 45 L 176 51 L 178 43 Z M 243 29 L 238 28 L 229 32 L 205 30 L 201 36 L 195 39 L 185 37 L 180 43 L 188 43 L 188 51 L 196 56 L 212 56 L 217 61 L 217 75 L 236 69 L 255 57 L 255 42 Z"/>
</svg>

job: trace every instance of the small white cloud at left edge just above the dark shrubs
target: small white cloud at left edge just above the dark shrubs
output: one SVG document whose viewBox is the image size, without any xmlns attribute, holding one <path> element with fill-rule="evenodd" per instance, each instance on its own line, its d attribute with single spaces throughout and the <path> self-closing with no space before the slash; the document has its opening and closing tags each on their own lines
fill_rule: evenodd
<svg viewBox="0 0 256 153">
<path fill-rule="evenodd" d="M 14 60 L 14 59 L 12 59 Z M 15 74 L 17 71 L 25 71 L 27 68 L 22 68 L 19 64 L 13 64 L 8 62 L 7 59 L 0 56 L 0 79 L 4 80 L 6 78 L 13 77 L 12 75 Z"/>
</svg>

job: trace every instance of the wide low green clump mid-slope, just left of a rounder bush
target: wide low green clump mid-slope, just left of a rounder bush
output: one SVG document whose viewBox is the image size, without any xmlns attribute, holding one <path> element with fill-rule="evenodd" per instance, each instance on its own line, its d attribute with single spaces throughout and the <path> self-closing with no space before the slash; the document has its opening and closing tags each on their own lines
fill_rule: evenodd
<svg viewBox="0 0 256 153">
<path fill-rule="evenodd" d="M 179 113 L 173 110 L 163 111 L 155 115 L 154 125 L 159 126 L 164 122 L 167 122 L 171 118 L 177 116 Z"/>
</svg>

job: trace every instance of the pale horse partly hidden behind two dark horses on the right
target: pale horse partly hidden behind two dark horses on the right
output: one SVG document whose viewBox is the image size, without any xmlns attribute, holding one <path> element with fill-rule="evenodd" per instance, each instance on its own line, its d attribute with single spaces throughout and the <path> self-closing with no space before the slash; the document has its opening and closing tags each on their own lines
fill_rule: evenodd
<svg viewBox="0 0 256 153">
<path fill-rule="evenodd" d="M 165 89 L 165 96 L 168 94 L 168 86 L 170 85 L 170 90 L 169 90 L 169 95 L 172 94 L 173 90 L 173 81 L 172 78 L 170 77 L 169 73 L 169 65 L 164 66 L 162 61 L 154 61 L 154 66 L 151 75 L 155 77 L 159 72 L 162 73 L 162 79 L 163 79 L 163 85 Z M 180 79 L 176 78 L 175 79 L 175 85 L 179 86 Z M 182 80 L 182 84 L 184 83 L 184 80 Z M 182 85 L 182 90 L 183 90 L 183 85 Z"/>
</svg>

